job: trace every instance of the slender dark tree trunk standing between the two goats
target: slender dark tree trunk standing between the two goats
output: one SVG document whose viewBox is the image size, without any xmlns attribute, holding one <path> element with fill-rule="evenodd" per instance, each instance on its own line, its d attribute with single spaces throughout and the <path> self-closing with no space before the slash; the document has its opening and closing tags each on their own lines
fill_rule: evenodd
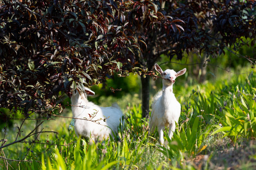
<svg viewBox="0 0 256 170">
<path fill-rule="evenodd" d="M 142 82 L 142 118 L 149 118 L 150 76 L 143 78 Z"/>
</svg>

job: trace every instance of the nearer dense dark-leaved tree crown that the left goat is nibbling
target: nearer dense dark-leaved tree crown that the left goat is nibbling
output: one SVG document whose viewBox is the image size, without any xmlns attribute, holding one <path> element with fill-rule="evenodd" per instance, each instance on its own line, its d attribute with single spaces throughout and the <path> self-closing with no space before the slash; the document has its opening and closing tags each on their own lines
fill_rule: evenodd
<svg viewBox="0 0 256 170">
<path fill-rule="evenodd" d="M 144 40 L 124 25 L 123 5 L 1 0 L 0 107 L 49 116 L 64 94 L 128 74 Z"/>
</svg>

